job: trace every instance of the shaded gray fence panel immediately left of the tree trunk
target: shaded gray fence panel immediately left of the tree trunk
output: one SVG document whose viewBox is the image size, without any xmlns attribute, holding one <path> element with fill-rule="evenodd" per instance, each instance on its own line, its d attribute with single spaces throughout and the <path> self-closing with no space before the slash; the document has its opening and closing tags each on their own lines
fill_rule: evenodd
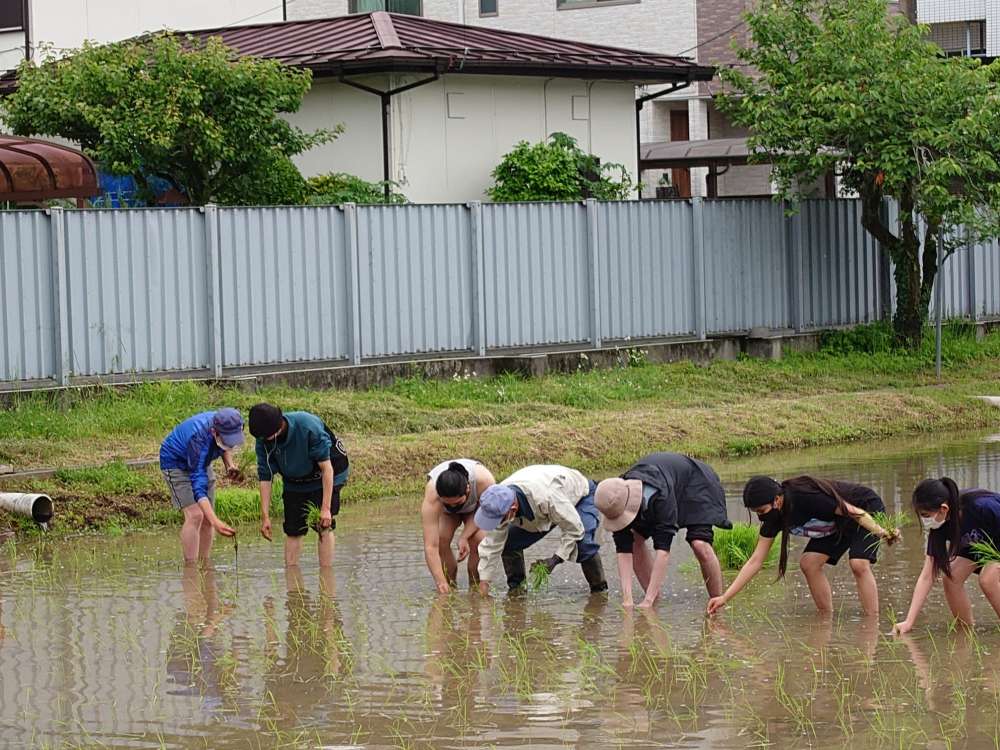
<svg viewBox="0 0 1000 750">
<path fill-rule="evenodd" d="M 878 320 L 881 251 L 861 225 L 859 202 L 804 201 L 792 220 L 791 241 L 802 252 L 804 327 Z"/>
</svg>

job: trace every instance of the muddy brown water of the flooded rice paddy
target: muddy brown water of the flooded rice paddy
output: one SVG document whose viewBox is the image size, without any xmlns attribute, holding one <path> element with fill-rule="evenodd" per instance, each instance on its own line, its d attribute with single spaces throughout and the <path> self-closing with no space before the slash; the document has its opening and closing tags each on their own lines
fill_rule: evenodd
<svg viewBox="0 0 1000 750">
<path fill-rule="evenodd" d="M 811 471 L 904 507 L 942 471 L 1000 487 L 1000 442 L 924 440 L 718 464 L 743 479 Z M 386 512 L 386 508 L 389 511 Z M 743 748 L 1000 744 L 1000 630 L 982 595 L 971 634 L 936 591 L 915 637 L 885 637 L 920 567 L 920 529 L 876 568 L 864 621 L 846 565 L 838 611 L 763 573 L 711 624 L 683 543 L 650 614 L 584 593 L 575 566 L 524 598 L 437 597 L 416 504 L 340 519 L 337 562 L 286 575 L 244 529 L 239 568 L 183 571 L 174 532 L 2 548 L 0 747 Z M 548 554 L 551 542 L 539 545 Z M 530 553 L 529 553 L 530 559 Z M 462 574 L 464 582 L 464 573 Z"/>
</svg>

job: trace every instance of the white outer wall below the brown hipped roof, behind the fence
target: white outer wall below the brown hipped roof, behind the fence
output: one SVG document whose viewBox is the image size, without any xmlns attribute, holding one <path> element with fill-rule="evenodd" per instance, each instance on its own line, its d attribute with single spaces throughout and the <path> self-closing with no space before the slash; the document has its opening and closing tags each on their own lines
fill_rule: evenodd
<svg viewBox="0 0 1000 750">
<path fill-rule="evenodd" d="M 410 80 L 415 79 L 395 76 L 391 85 Z M 379 88 L 390 84 L 369 82 Z M 576 118 L 573 97 L 579 97 Z M 485 200 L 490 172 L 505 153 L 520 140 L 534 143 L 555 131 L 569 133 L 603 161 L 635 173 L 630 84 L 451 75 L 393 97 L 392 107 L 393 179 L 415 202 Z M 333 143 L 296 159 L 306 176 L 335 171 L 382 179 L 378 97 L 317 81 L 290 119 L 308 129 L 337 122 L 346 127 Z"/>
</svg>

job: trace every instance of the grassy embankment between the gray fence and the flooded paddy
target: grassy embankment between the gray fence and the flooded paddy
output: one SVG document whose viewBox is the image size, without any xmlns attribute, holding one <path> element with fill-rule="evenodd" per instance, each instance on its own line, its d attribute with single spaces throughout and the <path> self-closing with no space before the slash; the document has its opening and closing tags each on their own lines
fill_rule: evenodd
<svg viewBox="0 0 1000 750">
<path fill-rule="evenodd" d="M 55 477 L 14 482 L 57 502 L 57 529 L 176 522 L 154 468 L 121 462 L 152 457 L 179 421 L 223 405 L 244 413 L 257 401 L 321 415 L 351 454 L 347 503 L 417 494 L 424 472 L 468 455 L 498 476 L 529 463 L 563 463 L 592 476 L 653 450 L 704 458 L 781 448 L 1000 426 L 1000 409 L 973 396 L 1000 390 L 1000 333 L 977 342 L 947 329 L 944 376 L 932 347 L 892 350 L 884 328 L 826 337 L 816 354 L 779 362 L 645 364 L 525 380 L 398 381 L 368 391 L 210 388 L 153 383 L 129 389 L 25 394 L 0 411 L 0 463 L 55 466 Z M 219 511 L 233 522 L 257 517 L 252 440 L 240 453 L 246 479 L 220 479 Z M 100 468 L 76 468 L 98 465 Z M 280 504 L 276 511 L 280 510 Z M 0 514 L 0 528 L 18 521 Z M 25 524 L 20 524 L 26 526 Z"/>
</svg>

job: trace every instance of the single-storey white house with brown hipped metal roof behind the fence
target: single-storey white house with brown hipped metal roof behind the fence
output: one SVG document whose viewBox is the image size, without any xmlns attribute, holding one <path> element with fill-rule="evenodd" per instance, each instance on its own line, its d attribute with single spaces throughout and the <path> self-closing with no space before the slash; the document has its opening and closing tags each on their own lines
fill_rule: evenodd
<svg viewBox="0 0 1000 750">
<path fill-rule="evenodd" d="M 345 131 L 298 159 L 304 174 L 389 179 L 416 202 L 484 199 L 505 153 L 556 131 L 635 176 L 636 87 L 669 91 L 713 72 L 682 57 L 385 12 L 190 33 L 312 70 L 290 119 Z"/>
</svg>

